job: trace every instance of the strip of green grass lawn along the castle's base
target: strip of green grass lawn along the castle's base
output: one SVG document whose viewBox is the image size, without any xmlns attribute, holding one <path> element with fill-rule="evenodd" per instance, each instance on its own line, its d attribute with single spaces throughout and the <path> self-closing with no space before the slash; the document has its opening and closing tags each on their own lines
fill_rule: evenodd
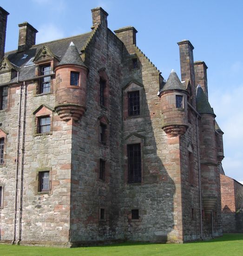
<svg viewBox="0 0 243 256">
<path fill-rule="evenodd" d="M 242 256 L 243 234 L 225 234 L 204 242 L 155 244 L 125 242 L 71 249 L 0 245 L 0 256 Z"/>
</svg>

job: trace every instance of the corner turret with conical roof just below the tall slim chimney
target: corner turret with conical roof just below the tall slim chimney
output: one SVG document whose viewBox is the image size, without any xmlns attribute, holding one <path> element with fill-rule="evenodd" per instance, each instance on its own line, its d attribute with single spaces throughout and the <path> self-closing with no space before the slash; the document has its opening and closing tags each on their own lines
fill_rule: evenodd
<svg viewBox="0 0 243 256">
<path fill-rule="evenodd" d="M 162 128 L 168 137 L 183 135 L 188 128 L 187 90 L 176 72 L 171 74 L 160 91 L 163 113 Z"/>
</svg>

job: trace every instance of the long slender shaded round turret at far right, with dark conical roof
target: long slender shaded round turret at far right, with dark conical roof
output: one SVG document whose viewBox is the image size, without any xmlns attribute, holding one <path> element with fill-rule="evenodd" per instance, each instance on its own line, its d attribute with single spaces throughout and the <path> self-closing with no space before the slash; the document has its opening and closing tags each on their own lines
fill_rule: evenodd
<svg viewBox="0 0 243 256">
<path fill-rule="evenodd" d="M 197 111 L 201 115 L 200 155 L 202 196 L 205 214 L 215 210 L 219 199 L 219 175 L 217 173 L 217 146 L 215 138 L 215 114 L 208 99 L 198 84 L 196 94 Z"/>
</svg>

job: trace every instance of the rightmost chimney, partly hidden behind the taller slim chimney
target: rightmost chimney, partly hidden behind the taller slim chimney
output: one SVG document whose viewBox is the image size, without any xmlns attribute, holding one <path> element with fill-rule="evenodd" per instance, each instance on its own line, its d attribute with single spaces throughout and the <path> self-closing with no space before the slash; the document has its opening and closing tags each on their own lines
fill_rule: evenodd
<svg viewBox="0 0 243 256">
<path fill-rule="evenodd" d="M 195 84 L 200 84 L 208 99 L 208 81 L 207 81 L 207 65 L 205 62 L 194 62 Z"/>
</svg>

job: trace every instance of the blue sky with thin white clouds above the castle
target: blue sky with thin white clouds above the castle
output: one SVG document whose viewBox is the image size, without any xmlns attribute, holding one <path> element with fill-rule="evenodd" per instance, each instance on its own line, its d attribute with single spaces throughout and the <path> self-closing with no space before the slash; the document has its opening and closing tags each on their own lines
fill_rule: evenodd
<svg viewBox="0 0 243 256">
<path fill-rule="evenodd" d="M 167 79 L 180 77 L 177 42 L 194 46 L 194 61 L 208 66 L 209 102 L 224 132 L 223 169 L 243 183 L 243 1 L 242 0 L 0 0 L 10 14 L 5 51 L 18 46 L 19 27 L 29 22 L 39 33 L 36 43 L 91 31 L 91 9 L 109 14 L 108 27 L 133 26 L 137 46 Z"/>
</svg>

